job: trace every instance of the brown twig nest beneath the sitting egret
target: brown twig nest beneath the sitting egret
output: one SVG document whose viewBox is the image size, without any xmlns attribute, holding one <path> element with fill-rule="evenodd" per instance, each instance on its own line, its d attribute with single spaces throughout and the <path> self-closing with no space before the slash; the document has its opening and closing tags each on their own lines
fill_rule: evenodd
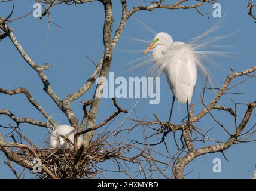
<svg viewBox="0 0 256 191">
<path fill-rule="evenodd" d="M 46 148 L 33 148 L 35 153 L 38 155 L 42 164 L 48 168 L 56 178 L 68 179 L 68 178 L 93 178 L 99 174 L 95 165 L 106 159 L 106 152 L 104 144 L 100 143 L 99 140 L 93 142 L 90 147 L 84 151 L 78 162 L 76 168 L 76 175 L 72 177 L 74 170 L 75 152 L 73 149 L 46 149 Z M 27 161 L 35 161 L 32 153 L 28 150 L 21 149 L 19 154 L 22 154 Z M 44 172 L 37 172 L 36 177 L 39 179 L 50 178 L 49 175 Z"/>
</svg>

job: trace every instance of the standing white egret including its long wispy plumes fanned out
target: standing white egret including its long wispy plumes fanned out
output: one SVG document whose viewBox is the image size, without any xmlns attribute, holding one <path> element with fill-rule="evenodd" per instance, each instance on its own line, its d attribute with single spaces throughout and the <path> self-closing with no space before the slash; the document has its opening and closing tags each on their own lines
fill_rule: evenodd
<svg viewBox="0 0 256 191">
<path fill-rule="evenodd" d="M 169 122 L 172 117 L 172 110 L 173 104 L 175 103 L 175 99 L 177 99 L 179 103 L 187 104 L 188 121 L 190 121 L 188 104 L 190 104 L 191 98 L 193 96 L 193 89 L 197 81 L 197 73 L 200 72 L 203 76 L 205 76 L 206 82 L 208 82 L 210 87 L 214 87 L 211 80 L 211 73 L 207 69 L 206 63 L 210 63 L 213 66 L 217 66 L 225 70 L 223 66 L 220 66 L 219 64 L 215 63 L 214 60 L 212 60 L 212 56 L 225 57 L 232 54 L 232 52 L 212 49 L 214 47 L 224 47 L 223 45 L 214 45 L 212 44 L 212 42 L 228 38 L 234 33 L 239 32 L 239 30 L 224 36 L 213 36 L 210 38 L 206 38 L 206 36 L 208 36 L 210 33 L 213 33 L 217 29 L 220 29 L 221 20 L 219 20 L 214 26 L 212 26 L 206 32 L 202 33 L 196 38 L 191 39 L 190 42 L 184 43 L 173 42 L 172 36 L 170 36 L 168 33 L 156 33 L 153 29 L 150 29 L 150 27 L 142 23 L 142 21 L 138 21 L 147 30 L 155 34 L 153 42 L 136 38 L 130 39 L 140 42 L 151 43 L 148 46 L 148 48 L 144 51 L 144 54 L 153 49 L 153 58 L 148 58 L 150 56 L 144 56 L 141 58 L 137 58 L 136 60 L 130 61 L 129 63 L 134 63 L 135 61 L 146 58 L 146 60 L 142 60 L 141 63 L 138 63 L 136 66 L 130 68 L 129 70 L 142 67 L 145 64 L 151 64 L 151 60 L 153 60 L 155 66 L 151 70 L 152 73 L 150 74 L 150 76 L 160 76 L 161 72 L 164 72 L 169 87 L 173 93 Z M 155 70 L 156 68 L 157 70 Z M 140 98 L 136 100 L 136 103 L 133 105 L 132 109 L 130 109 L 129 113 L 127 113 L 127 115 L 125 116 L 120 125 L 124 123 L 124 121 L 130 115 L 132 110 L 135 109 L 136 105 L 139 103 L 139 100 Z"/>
</svg>

